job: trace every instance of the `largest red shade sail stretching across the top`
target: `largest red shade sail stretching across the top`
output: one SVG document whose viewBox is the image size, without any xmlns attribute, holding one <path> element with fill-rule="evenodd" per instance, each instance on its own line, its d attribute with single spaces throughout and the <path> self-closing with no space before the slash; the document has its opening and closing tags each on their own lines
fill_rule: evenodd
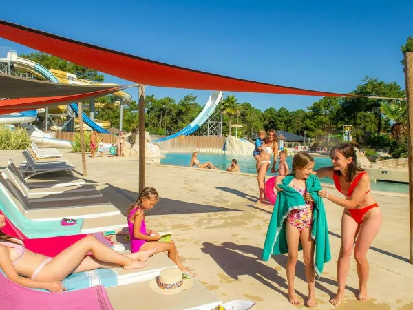
<svg viewBox="0 0 413 310">
<path fill-rule="evenodd" d="M 235 79 L 160 63 L 0 20 L 0 37 L 122 79 L 159 87 L 307 96 L 354 96 Z"/>
</svg>

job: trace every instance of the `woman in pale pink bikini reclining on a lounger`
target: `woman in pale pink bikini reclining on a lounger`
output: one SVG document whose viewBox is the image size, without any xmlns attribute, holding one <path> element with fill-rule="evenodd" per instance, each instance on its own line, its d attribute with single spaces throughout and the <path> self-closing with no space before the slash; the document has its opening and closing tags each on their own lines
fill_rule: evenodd
<svg viewBox="0 0 413 310">
<path fill-rule="evenodd" d="M 4 217 L 0 217 L 0 229 L 4 227 Z M 51 258 L 36 254 L 25 248 L 23 242 L 0 231 L 0 268 L 13 282 L 32 289 L 66 291 L 62 282 L 71 273 L 98 268 L 123 266 L 124 269 L 138 269 L 147 265 L 150 256 L 158 249 L 132 254 L 119 254 L 87 236 Z M 92 252 L 92 255 L 87 255 Z"/>
</svg>

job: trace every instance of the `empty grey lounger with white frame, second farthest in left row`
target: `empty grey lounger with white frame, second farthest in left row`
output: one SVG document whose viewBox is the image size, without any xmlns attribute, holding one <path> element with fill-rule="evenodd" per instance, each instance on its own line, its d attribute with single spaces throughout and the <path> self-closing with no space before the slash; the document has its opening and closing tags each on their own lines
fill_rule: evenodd
<svg viewBox="0 0 413 310">
<path fill-rule="evenodd" d="M 72 170 L 74 169 L 74 165 L 69 162 L 39 164 L 33 161 L 32 157 L 28 154 L 28 151 L 23 151 L 23 156 L 25 157 L 26 162 L 20 165 L 19 170 L 22 174 L 28 174 L 28 176 L 25 177 L 26 180 L 32 176 L 48 172 L 66 171 L 68 174 L 73 175 Z"/>
</svg>

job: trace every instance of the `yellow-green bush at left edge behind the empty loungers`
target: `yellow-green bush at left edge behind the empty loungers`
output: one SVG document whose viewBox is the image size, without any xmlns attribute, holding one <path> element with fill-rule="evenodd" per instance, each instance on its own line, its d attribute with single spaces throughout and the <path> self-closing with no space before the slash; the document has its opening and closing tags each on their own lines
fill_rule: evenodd
<svg viewBox="0 0 413 310">
<path fill-rule="evenodd" d="M 0 125 L 0 149 L 20 150 L 30 146 L 30 136 L 25 128 Z"/>
</svg>

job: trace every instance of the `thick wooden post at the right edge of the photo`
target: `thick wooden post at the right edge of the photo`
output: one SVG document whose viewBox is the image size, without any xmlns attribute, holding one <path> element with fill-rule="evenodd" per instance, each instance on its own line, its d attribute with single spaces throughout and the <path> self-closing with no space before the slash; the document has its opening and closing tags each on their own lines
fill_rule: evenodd
<svg viewBox="0 0 413 310">
<path fill-rule="evenodd" d="M 413 264 L 413 52 L 404 54 L 407 94 L 407 149 L 409 151 L 410 264 Z"/>
</svg>

